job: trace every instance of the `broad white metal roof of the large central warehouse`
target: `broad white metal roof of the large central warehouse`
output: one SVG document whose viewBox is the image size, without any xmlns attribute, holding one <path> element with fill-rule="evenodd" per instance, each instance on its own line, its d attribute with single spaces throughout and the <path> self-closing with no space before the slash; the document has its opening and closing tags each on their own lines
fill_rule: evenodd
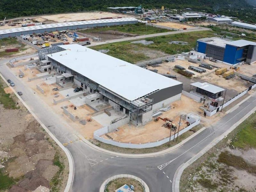
<svg viewBox="0 0 256 192">
<path fill-rule="evenodd" d="M 88 47 L 78 44 L 59 47 L 66 50 L 47 56 L 130 101 L 182 84 Z"/>
</svg>

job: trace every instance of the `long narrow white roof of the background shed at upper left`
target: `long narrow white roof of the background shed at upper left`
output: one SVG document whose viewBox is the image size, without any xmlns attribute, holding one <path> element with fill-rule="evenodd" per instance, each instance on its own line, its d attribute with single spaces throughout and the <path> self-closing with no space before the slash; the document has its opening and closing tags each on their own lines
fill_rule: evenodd
<svg viewBox="0 0 256 192">
<path fill-rule="evenodd" d="M 52 23 L 47 25 L 35 25 L 35 26 L 29 26 L 29 27 L 4 29 L 4 30 L 0 30 L 0 35 L 15 33 L 15 32 L 32 31 L 36 29 L 47 29 L 47 28 L 66 27 L 66 26 L 75 26 L 75 25 L 87 25 L 87 24 L 95 24 L 95 23 L 113 23 L 113 22 L 122 22 L 122 21 L 138 21 L 138 20 L 135 18 L 128 17 L 128 18 L 117 18 L 117 19 L 99 19 L 99 20 L 88 20 L 88 21 Z"/>
</svg>

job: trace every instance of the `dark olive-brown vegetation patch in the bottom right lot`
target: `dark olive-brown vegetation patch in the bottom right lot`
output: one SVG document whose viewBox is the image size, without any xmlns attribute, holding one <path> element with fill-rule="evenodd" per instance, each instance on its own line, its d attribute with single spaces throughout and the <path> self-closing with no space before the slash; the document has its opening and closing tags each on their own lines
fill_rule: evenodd
<svg viewBox="0 0 256 192">
<path fill-rule="evenodd" d="M 246 163 L 242 157 L 230 154 L 228 151 L 221 152 L 217 161 L 235 167 L 236 169 L 242 169 L 249 173 L 256 174 L 255 165 Z"/>
</svg>

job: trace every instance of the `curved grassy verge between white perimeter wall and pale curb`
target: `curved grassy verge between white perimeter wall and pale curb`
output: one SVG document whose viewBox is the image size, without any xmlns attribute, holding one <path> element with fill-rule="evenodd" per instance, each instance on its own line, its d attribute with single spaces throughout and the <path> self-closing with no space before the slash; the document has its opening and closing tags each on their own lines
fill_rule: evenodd
<svg viewBox="0 0 256 192">
<path fill-rule="evenodd" d="M 121 148 L 121 147 L 116 147 L 113 145 L 109 145 L 106 143 L 102 143 L 98 140 L 92 139 L 90 140 L 90 142 L 100 148 L 103 149 L 107 149 L 109 151 L 114 151 L 117 153 L 125 153 L 125 154 L 146 154 L 146 153 L 155 153 L 155 152 L 159 152 L 159 151 L 163 151 L 164 149 L 168 149 L 170 147 L 173 147 L 177 144 L 179 144 L 182 140 L 188 138 L 190 135 L 192 135 L 193 133 L 199 131 L 202 128 L 202 125 L 199 124 L 197 126 L 195 126 L 194 128 L 190 129 L 189 131 L 183 133 L 182 135 L 180 135 L 178 137 L 178 140 L 175 138 L 174 142 L 173 140 L 171 140 L 170 145 L 169 142 L 160 145 L 158 147 L 153 147 L 153 148 L 143 148 L 143 149 L 133 149 L 133 148 Z"/>
</svg>

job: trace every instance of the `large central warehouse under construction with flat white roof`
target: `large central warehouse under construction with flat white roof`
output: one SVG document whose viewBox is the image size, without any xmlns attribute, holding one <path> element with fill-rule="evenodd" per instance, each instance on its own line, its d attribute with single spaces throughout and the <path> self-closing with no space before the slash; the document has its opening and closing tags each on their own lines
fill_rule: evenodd
<svg viewBox="0 0 256 192">
<path fill-rule="evenodd" d="M 40 50 L 39 59 L 62 76 L 62 82 L 56 76 L 60 85 L 72 82 L 94 94 L 86 104 L 108 102 L 135 125 L 147 123 L 153 111 L 181 97 L 181 82 L 78 44 Z"/>
</svg>

